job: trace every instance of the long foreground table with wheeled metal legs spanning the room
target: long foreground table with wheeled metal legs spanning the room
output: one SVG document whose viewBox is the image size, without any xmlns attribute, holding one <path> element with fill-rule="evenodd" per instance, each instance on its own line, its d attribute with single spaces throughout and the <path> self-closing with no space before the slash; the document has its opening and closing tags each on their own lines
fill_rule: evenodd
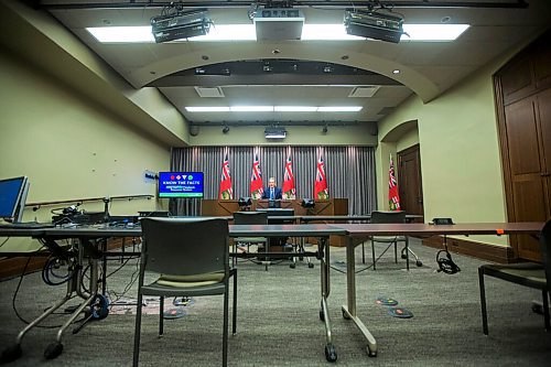
<svg viewBox="0 0 551 367">
<path fill-rule="evenodd" d="M 430 237 L 430 236 L 451 236 L 451 235 L 531 235 L 537 236 L 541 231 L 543 223 L 484 223 L 484 224 L 454 224 L 454 225 L 426 225 L 426 224 L 289 224 L 289 225 L 230 225 L 230 237 L 244 236 L 260 236 L 260 237 L 318 237 L 321 238 L 318 250 L 316 252 L 317 259 L 321 261 L 321 310 L 320 319 L 325 323 L 326 344 L 325 356 L 328 361 L 337 359 L 336 348 L 332 342 L 331 323 L 328 316 L 327 298 L 331 292 L 329 284 L 329 246 L 327 246 L 328 236 L 345 236 L 346 237 L 346 284 L 347 284 L 347 304 L 342 306 L 343 317 L 352 320 L 365 337 L 367 345 L 367 354 L 370 357 L 377 356 L 377 342 L 367 326 L 357 316 L 356 309 L 356 271 L 355 271 L 355 238 L 365 238 L 371 236 L 415 236 L 415 237 Z M 51 244 L 53 250 L 55 248 L 55 240 L 76 238 L 82 246 L 78 246 L 79 261 L 84 261 L 86 251 L 90 252 L 90 240 L 109 237 L 140 237 L 141 229 L 120 228 L 109 226 L 88 226 L 76 228 L 0 228 L 0 236 L 25 236 L 39 238 L 46 244 Z M 357 242 L 357 241 L 356 241 Z M 91 249 L 91 252 L 94 250 Z M 85 302 L 75 311 L 69 320 L 62 326 L 57 333 L 56 343 L 61 344 L 61 339 L 65 330 L 76 320 L 86 306 L 95 301 L 97 293 L 97 261 L 98 256 L 89 257 L 93 273 L 90 274 L 89 293 L 79 290 L 79 282 L 83 274 L 76 277 L 73 282 L 67 284 L 67 299 L 69 293 L 76 292 L 85 299 Z M 96 268 L 96 270 L 94 270 Z M 37 325 L 47 315 L 53 313 L 58 306 L 65 303 L 65 299 L 56 303 L 52 309 L 47 310 L 44 314 L 39 316 L 35 321 L 29 324 L 21 331 L 17 337 L 17 346 L 20 348 L 21 339 L 24 334 L 32 327 Z M 61 352 L 60 352 L 61 353 Z"/>
</svg>

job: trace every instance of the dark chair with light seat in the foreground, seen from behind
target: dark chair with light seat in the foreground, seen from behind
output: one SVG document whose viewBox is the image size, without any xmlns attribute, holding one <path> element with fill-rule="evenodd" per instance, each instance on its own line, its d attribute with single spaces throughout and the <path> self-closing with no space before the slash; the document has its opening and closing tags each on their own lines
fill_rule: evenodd
<svg viewBox="0 0 551 367">
<path fill-rule="evenodd" d="M 140 258 L 138 309 L 136 315 L 133 366 L 140 354 L 143 295 L 161 298 L 159 335 L 163 334 L 165 296 L 224 295 L 223 366 L 228 355 L 228 293 L 234 277 L 233 333 L 236 333 L 237 270 L 229 267 L 226 219 L 141 219 L 143 242 Z M 145 271 L 159 279 L 144 285 Z M 185 343 L 183 344 L 185 346 Z"/>
</svg>

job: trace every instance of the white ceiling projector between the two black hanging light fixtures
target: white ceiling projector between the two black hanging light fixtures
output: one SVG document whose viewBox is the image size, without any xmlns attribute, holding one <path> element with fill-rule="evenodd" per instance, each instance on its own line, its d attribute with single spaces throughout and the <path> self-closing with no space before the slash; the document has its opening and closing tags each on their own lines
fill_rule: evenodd
<svg viewBox="0 0 551 367">
<path fill-rule="evenodd" d="M 304 14 L 293 8 L 264 8 L 255 13 L 257 40 L 300 40 Z"/>
</svg>

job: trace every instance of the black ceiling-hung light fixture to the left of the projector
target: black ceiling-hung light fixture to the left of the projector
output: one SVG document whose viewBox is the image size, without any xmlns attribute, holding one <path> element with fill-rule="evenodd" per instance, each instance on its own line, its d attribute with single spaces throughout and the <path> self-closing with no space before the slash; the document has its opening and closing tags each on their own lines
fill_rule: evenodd
<svg viewBox="0 0 551 367">
<path fill-rule="evenodd" d="M 177 10 L 151 18 L 151 31 L 155 42 L 162 43 L 205 35 L 210 29 L 210 23 L 206 9 Z"/>
</svg>

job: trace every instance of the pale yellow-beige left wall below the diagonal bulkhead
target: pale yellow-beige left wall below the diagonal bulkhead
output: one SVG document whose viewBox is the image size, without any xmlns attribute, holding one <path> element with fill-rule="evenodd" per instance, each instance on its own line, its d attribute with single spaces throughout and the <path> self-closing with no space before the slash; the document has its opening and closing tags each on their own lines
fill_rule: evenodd
<svg viewBox="0 0 551 367">
<path fill-rule="evenodd" d="M 154 195 L 144 170 L 168 170 L 169 147 L 22 60 L 0 54 L 0 177 L 29 176 L 28 202 Z M 102 211 L 102 203 L 82 207 Z M 156 207 L 155 199 L 115 201 L 110 213 Z M 26 209 L 23 220 L 48 220 L 51 208 Z M 2 251 L 32 247 L 10 239 Z"/>
</svg>

